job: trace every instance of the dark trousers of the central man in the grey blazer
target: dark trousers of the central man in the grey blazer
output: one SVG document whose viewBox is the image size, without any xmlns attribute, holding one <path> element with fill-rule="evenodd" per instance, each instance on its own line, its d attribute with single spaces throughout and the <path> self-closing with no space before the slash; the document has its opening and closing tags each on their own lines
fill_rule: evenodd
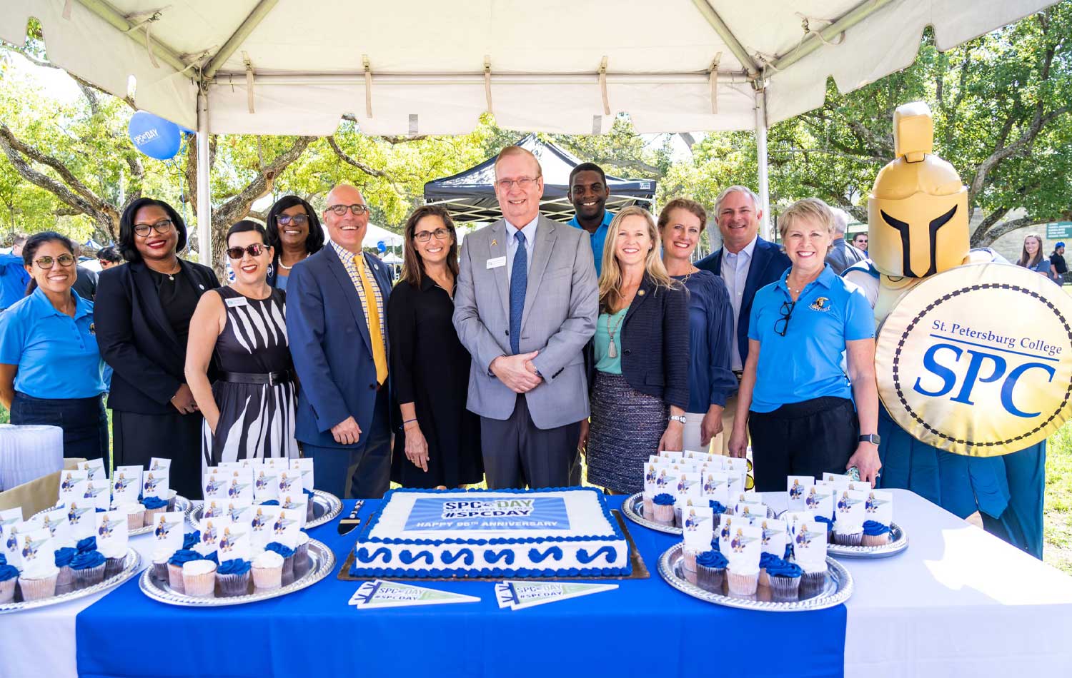
<svg viewBox="0 0 1072 678">
<path fill-rule="evenodd" d="M 566 487 L 580 480 L 577 441 L 581 422 L 537 428 L 524 395 L 509 419 L 480 418 L 480 447 L 489 489 Z"/>
</svg>

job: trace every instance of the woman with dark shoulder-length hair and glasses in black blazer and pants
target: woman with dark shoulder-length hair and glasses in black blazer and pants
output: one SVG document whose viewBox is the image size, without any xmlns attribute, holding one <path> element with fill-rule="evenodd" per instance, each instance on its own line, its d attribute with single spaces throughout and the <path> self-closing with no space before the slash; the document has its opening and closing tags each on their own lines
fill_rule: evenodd
<svg viewBox="0 0 1072 678">
<path fill-rule="evenodd" d="M 220 281 L 178 257 L 185 245 L 187 226 L 170 205 L 131 202 L 119 222 L 129 263 L 101 273 L 94 320 L 101 355 L 115 371 L 113 464 L 170 458 L 170 488 L 194 499 L 202 495 L 202 416 L 183 376 L 187 335 L 197 300 Z"/>
</svg>

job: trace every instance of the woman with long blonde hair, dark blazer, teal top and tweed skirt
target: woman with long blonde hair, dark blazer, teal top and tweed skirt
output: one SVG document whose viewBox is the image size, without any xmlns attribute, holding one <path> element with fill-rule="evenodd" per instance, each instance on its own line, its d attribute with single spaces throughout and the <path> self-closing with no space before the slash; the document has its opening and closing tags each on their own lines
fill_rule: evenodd
<svg viewBox="0 0 1072 678">
<path fill-rule="evenodd" d="M 649 455 L 681 450 L 688 407 L 688 299 L 662 265 L 655 220 L 627 207 L 610 223 L 592 340 L 595 378 L 587 478 L 643 488 Z M 584 440 L 582 424 L 582 445 Z"/>
</svg>

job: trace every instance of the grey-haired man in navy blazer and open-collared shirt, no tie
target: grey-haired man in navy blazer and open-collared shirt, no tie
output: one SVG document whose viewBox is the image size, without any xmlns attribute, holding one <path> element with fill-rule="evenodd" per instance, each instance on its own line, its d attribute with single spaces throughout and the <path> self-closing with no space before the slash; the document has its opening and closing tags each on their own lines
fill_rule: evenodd
<svg viewBox="0 0 1072 678">
<path fill-rule="evenodd" d="M 746 186 L 730 186 L 715 200 L 718 230 L 723 246 L 711 256 L 696 262 L 696 267 L 711 271 L 726 283 L 733 305 L 733 332 L 736 344 L 730 345 L 730 368 L 741 379 L 744 361 L 748 357 L 748 316 L 756 292 L 779 280 L 790 267 L 789 257 L 773 242 L 759 237 L 763 220 L 759 196 Z M 733 430 L 733 411 L 736 396 L 726 402 L 723 410 L 723 454 L 729 453 L 729 432 Z"/>
</svg>

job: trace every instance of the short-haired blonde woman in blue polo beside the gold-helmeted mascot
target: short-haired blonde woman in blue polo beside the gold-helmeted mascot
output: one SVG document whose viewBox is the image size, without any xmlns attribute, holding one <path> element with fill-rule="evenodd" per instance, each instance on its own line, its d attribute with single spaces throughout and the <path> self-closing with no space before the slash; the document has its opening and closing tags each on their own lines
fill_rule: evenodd
<svg viewBox="0 0 1072 678">
<path fill-rule="evenodd" d="M 794 202 L 778 227 L 792 267 L 753 302 L 730 454 L 745 455 L 747 424 L 759 492 L 785 489 L 786 476 L 853 466 L 874 484 L 881 463 L 870 305 L 825 265 L 834 230 L 825 202 Z"/>
</svg>

